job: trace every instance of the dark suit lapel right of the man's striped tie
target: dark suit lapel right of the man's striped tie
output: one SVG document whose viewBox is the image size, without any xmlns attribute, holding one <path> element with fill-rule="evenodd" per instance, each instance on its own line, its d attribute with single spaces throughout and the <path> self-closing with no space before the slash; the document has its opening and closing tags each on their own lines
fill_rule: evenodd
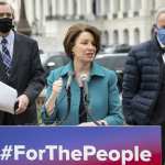
<svg viewBox="0 0 165 165">
<path fill-rule="evenodd" d="M 11 76 L 15 75 L 18 70 L 18 62 L 19 56 L 21 54 L 21 45 L 20 45 L 20 36 L 14 32 L 14 44 L 13 44 L 13 57 L 12 57 L 12 67 L 11 67 Z"/>
</svg>

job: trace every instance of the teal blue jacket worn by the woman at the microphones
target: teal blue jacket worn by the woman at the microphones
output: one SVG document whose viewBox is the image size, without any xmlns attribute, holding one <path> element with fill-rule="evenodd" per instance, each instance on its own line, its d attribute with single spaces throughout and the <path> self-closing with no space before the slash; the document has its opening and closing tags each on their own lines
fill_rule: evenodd
<svg viewBox="0 0 165 165">
<path fill-rule="evenodd" d="M 48 118 L 48 122 L 53 123 L 56 120 L 62 120 L 67 113 L 67 95 L 66 95 L 66 82 L 68 73 L 73 72 L 73 63 L 68 63 L 66 66 L 62 66 L 51 72 L 47 78 L 47 96 L 52 92 L 52 85 L 59 77 L 63 78 L 63 89 L 56 100 L 56 107 L 54 114 Z M 89 110 L 91 116 L 96 120 L 106 120 L 110 125 L 122 124 L 123 116 L 121 110 L 121 102 L 119 98 L 119 91 L 117 88 L 117 76 L 114 72 L 108 70 L 105 67 L 94 63 L 88 80 L 88 92 L 89 92 Z M 80 89 L 75 79 L 70 84 L 72 92 L 72 109 L 67 120 L 64 122 L 66 125 L 79 124 L 79 103 L 80 103 Z M 46 122 L 47 118 L 44 116 L 43 109 L 43 121 Z M 91 121 L 87 117 L 88 121 Z"/>
</svg>

